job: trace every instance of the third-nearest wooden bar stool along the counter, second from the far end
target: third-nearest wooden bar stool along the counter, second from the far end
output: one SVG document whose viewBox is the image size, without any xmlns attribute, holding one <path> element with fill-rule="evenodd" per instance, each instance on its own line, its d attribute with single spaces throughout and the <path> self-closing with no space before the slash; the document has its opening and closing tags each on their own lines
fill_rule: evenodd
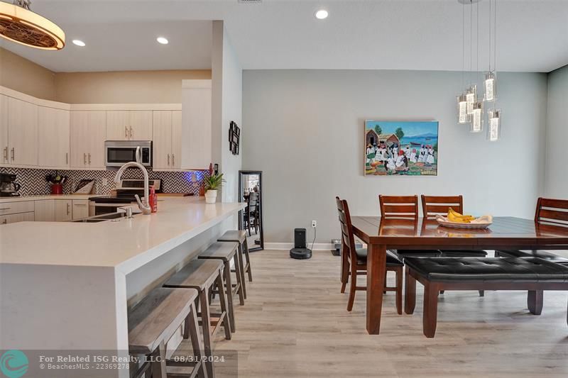
<svg viewBox="0 0 568 378">
<path fill-rule="evenodd" d="M 243 292 L 243 276 L 241 263 L 239 262 L 239 254 L 236 253 L 238 247 L 237 243 L 213 243 L 207 250 L 202 252 L 199 256 L 201 260 L 221 260 L 225 267 L 225 290 L 227 302 L 229 304 L 229 320 L 231 322 L 231 329 L 236 330 L 235 314 L 233 309 L 233 296 L 239 294 L 239 304 L 244 306 L 244 292 Z M 236 284 L 231 282 L 231 259 L 235 265 Z M 222 288 L 222 286 L 219 286 Z M 219 290 L 222 291 L 222 290 Z"/>
</svg>

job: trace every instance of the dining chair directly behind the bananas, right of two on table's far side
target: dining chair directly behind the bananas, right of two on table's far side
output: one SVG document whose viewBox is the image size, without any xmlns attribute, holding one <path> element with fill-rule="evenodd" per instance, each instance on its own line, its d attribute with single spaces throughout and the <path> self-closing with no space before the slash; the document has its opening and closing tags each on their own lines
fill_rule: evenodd
<svg viewBox="0 0 568 378">
<path fill-rule="evenodd" d="M 426 196 L 422 194 L 422 214 L 425 219 L 433 220 L 436 216 L 446 216 L 449 208 L 454 209 L 458 213 L 464 213 L 464 197 L 459 196 Z M 486 257 L 487 252 L 484 250 L 441 250 L 442 257 Z M 440 291 L 444 294 L 444 291 Z M 484 296 L 485 291 L 479 290 L 479 296 Z"/>
</svg>

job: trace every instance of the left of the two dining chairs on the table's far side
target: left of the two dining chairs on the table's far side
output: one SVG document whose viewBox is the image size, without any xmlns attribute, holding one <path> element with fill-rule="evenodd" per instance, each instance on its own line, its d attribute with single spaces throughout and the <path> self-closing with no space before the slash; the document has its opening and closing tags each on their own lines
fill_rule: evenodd
<svg viewBox="0 0 568 378">
<path fill-rule="evenodd" d="M 383 219 L 410 219 L 418 222 L 418 196 L 383 196 L 379 194 L 378 203 Z M 439 250 L 391 250 L 404 261 L 405 257 L 439 257 Z"/>
</svg>

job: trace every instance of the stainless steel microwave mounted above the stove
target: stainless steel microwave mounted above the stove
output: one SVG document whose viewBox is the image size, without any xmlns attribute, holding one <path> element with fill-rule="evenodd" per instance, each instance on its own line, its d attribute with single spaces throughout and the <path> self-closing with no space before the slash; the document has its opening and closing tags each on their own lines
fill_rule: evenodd
<svg viewBox="0 0 568 378">
<path fill-rule="evenodd" d="M 152 167 L 151 140 L 107 140 L 104 142 L 104 163 L 107 167 L 121 167 L 127 162 L 139 162 Z"/>
</svg>

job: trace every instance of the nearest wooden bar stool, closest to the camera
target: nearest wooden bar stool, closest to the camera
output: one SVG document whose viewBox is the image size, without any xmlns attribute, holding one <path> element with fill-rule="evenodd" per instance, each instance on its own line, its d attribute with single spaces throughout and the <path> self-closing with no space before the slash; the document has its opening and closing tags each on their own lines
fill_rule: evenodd
<svg viewBox="0 0 568 378">
<path fill-rule="evenodd" d="M 129 311 L 129 352 L 132 355 L 146 355 L 150 362 L 144 362 L 132 376 L 166 378 L 168 366 L 192 367 L 192 371 L 183 374 L 195 377 L 200 372 L 206 377 L 202 364 L 202 345 L 197 330 L 195 299 L 197 290 L 153 289 L 132 311 Z M 165 344 L 185 321 L 186 332 L 191 340 L 197 361 L 173 362 L 165 359 Z M 133 367 L 135 367 L 133 365 Z"/>
</svg>

